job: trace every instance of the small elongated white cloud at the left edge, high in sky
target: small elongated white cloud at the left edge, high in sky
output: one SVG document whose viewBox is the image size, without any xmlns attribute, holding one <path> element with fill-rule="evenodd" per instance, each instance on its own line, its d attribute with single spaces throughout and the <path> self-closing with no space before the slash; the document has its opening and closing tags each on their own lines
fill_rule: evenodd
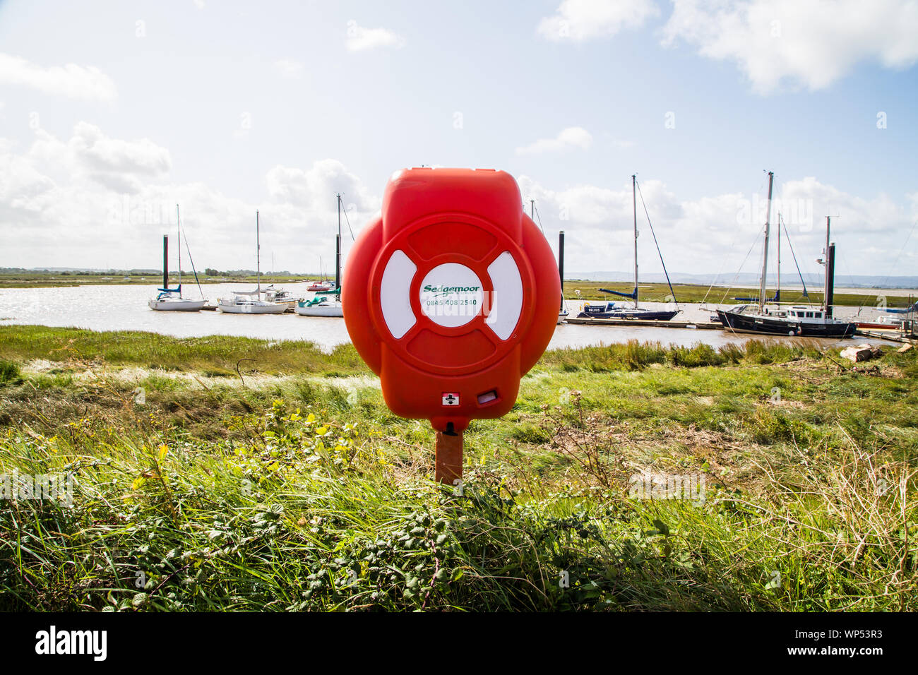
<svg viewBox="0 0 918 675">
<path fill-rule="evenodd" d="M 45 67 L 3 53 L 0 53 L 0 84 L 28 86 L 44 94 L 92 101 L 118 98 L 115 83 L 95 66 L 67 63 Z"/>
</svg>

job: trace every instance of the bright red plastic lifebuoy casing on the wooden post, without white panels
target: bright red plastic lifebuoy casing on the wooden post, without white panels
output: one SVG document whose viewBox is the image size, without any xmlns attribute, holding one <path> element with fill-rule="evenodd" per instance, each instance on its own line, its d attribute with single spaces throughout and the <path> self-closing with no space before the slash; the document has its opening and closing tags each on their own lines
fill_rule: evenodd
<svg viewBox="0 0 918 675">
<path fill-rule="evenodd" d="M 381 307 L 383 272 L 392 253 L 417 265 L 409 300 L 416 322 L 399 338 Z M 519 320 L 506 340 L 486 324 L 487 301 L 458 327 L 420 308 L 421 280 L 444 263 L 470 268 L 487 298 L 488 265 L 510 253 L 521 277 Z M 557 323 L 561 286 L 554 254 L 522 208 L 513 176 L 493 169 L 404 169 L 386 185 L 381 215 L 361 232 L 341 285 L 344 322 L 354 347 L 380 377 L 395 414 L 429 419 L 438 431 L 464 431 L 472 419 L 512 408 L 520 379 L 543 354 Z M 459 404 L 446 406 L 446 392 Z M 496 395 L 495 399 L 481 402 Z"/>
</svg>

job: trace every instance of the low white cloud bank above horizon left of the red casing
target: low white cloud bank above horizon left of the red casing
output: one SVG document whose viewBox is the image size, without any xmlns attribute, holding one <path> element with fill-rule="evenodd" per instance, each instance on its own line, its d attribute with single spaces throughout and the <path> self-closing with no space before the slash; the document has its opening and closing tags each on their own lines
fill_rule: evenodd
<svg viewBox="0 0 918 675">
<path fill-rule="evenodd" d="M 25 151 L 0 138 L 0 266 L 156 268 L 179 204 L 198 270 L 254 269 L 259 209 L 263 264 L 274 253 L 278 270 L 318 271 L 319 256 L 326 268 L 334 258 L 335 193 L 344 193 L 354 233 L 381 204 L 333 159 L 275 166 L 254 202 L 203 183 L 174 183 L 171 163 L 152 141 L 113 139 L 86 122 L 63 140 L 39 129 Z M 346 252 L 346 224 L 343 235 Z"/>
</svg>

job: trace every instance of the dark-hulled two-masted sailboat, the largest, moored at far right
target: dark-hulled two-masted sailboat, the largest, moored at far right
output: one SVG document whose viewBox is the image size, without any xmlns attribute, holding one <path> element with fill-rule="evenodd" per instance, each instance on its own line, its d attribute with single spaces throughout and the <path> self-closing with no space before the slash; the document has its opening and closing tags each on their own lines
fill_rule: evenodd
<svg viewBox="0 0 918 675">
<path fill-rule="evenodd" d="M 738 305 L 731 309 L 717 309 L 717 317 L 724 328 L 734 332 L 755 332 L 768 335 L 795 335 L 802 337 L 843 338 L 853 335 L 857 329 L 855 323 L 839 321 L 832 317 L 832 296 L 835 278 L 835 244 L 829 242 L 831 219 L 825 219 L 825 290 L 823 306 L 795 306 L 788 309 L 767 307 L 766 302 L 777 300 L 767 298 L 766 276 L 768 271 L 768 237 L 771 227 L 771 191 L 775 173 L 768 172 L 768 205 L 765 217 L 765 246 L 762 251 L 762 276 L 759 279 L 758 304 Z"/>
</svg>

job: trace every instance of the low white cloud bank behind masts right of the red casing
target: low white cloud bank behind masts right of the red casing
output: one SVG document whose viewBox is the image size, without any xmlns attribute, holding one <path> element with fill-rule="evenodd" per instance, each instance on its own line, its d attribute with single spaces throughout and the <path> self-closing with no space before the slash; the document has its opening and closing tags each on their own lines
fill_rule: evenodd
<svg viewBox="0 0 918 675">
<path fill-rule="evenodd" d="M 554 231 L 565 231 L 565 265 L 571 274 L 630 269 L 630 178 L 617 187 L 578 185 L 561 190 L 542 186 L 525 175 L 519 183 L 523 198 L 535 199 L 546 234 L 551 238 Z M 689 199 L 678 197 L 657 180 L 641 180 L 639 176 L 638 183 L 670 273 L 720 274 L 724 282 L 731 281 L 737 271 L 756 273 L 761 250 L 761 240 L 756 244 L 756 238 L 765 223 L 764 194 Z M 826 213 L 838 217 L 833 219 L 832 236 L 839 247 L 838 274 L 876 274 L 877 270 L 890 275 L 912 274 L 907 261 L 913 257 L 909 252 L 914 251 L 916 242 L 902 253 L 896 269 L 890 269 L 890 260 L 896 258 L 918 218 L 918 195 L 904 195 L 901 201 L 884 194 L 858 197 L 810 176 L 776 184 L 775 197 L 772 225 L 780 209 L 804 274 L 821 274 L 813 260 L 823 249 Z M 641 197 L 637 211 L 642 274 L 662 273 Z M 873 253 L 868 251 L 871 246 L 876 249 Z M 782 261 L 786 273 L 793 276 L 789 253 L 782 254 Z"/>
</svg>

